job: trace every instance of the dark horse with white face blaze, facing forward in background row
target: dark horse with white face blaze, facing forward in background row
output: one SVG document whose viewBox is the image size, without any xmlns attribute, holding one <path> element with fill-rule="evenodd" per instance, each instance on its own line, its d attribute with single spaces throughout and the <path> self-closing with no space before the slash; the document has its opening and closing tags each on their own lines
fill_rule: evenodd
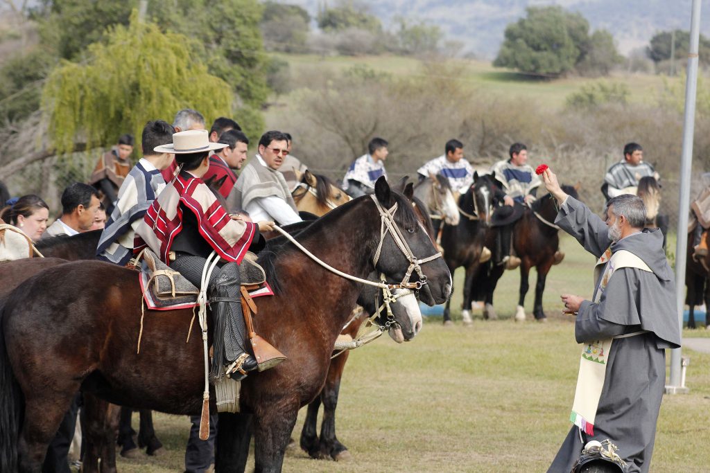
<svg viewBox="0 0 710 473">
<path fill-rule="evenodd" d="M 453 274 L 458 267 L 466 268 L 464 306 L 461 311 L 464 323 L 471 323 L 471 302 L 474 301 L 471 281 L 481 267 L 481 250 L 484 248 L 486 230 L 491 222 L 495 185 L 490 176 L 474 173 L 474 184 L 459 197 L 459 224 L 446 225 L 442 230 L 441 245 L 449 271 Z M 451 299 L 444 308 L 444 325 L 452 323 L 450 304 Z"/>
</svg>

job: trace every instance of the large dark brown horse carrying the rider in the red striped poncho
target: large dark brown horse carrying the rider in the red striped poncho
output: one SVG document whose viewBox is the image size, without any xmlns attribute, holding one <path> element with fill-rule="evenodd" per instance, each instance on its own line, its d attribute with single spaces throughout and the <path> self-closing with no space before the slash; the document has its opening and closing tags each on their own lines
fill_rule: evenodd
<svg viewBox="0 0 710 473">
<path fill-rule="evenodd" d="M 435 253 L 408 201 L 391 192 L 383 179 L 376 185 L 376 201 L 364 197 L 332 211 L 304 230 L 300 242 L 348 274 L 364 277 L 376 269 L 388 281 L 401 281 L 411 269 L 410 260 L 389 233 L 381 240 L 378 204 L 397 206 L 393 217 L 397 234 L 414 255 Z M 271 240 L 259 261 L 276 294 L 257 301 L 256 329 L 289 359 L 248 377 L 241 386 L 240 406 L 254 415 L 256 471 L 278 472 L 297 410 L 320 390 L 334 341 L 360 288 L 281 239 Z M 430 260 L 420 269 L 427 279 L 422 299 L 428 304 L 447 299 L 451 275 L 444 263 Z M 412 280 L 417 279 L 415 273 Z M 200 412 L 202 343 L 197 336 L 190 343 L 184 341 L 192 311 L 146 311 L 138 355 L 140 299 L 135 272 L 89 261 L 47 269 L 4 300 L 0 334 L 4 472 L 38 471 L 60 417 L 80 388 L 114 404 L 175 414 Z M 410 321 L 398 322 L 405 338 L 414 335 Z M 230 460 L 244 447 L 236 417 L 220 415 L 221 471 L 237 471 Z"/>
</svg>

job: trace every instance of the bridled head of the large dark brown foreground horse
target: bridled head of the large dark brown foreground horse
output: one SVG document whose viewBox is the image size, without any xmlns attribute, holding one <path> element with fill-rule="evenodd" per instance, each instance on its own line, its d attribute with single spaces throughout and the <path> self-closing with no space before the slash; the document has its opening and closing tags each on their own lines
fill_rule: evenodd
<svg viewBox="0 0 710 473">
<path fill-rule="evenodd" d="M 410 201 L 390 189 L 384 177 L 377 179 L 375 194 L 369 199 L 375 202 L 381 222 L 373 260 L 376 271 L 388 283 L 416 283 L 425 304 L 442 304 L 451 294 L 451 273 Z"/>
</svg>

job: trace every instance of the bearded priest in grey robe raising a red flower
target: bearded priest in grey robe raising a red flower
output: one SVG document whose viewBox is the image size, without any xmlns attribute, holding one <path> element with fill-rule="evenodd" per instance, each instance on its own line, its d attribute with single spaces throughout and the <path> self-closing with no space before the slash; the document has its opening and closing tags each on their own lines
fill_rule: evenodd
<svg viewBox="0 0 710 473">
<path fill-rule="evenodd" d="M 613 338 L 613 344 L 606 358 L 603 385 L 599 386 L 594 425 L 588 429 L 572 426 L 548 473 L 569 473 L 586 443 L 607 439 L 618 446 L 617 453 L 629 473 L 648 472 L 665 386 L 665 349 L 681 343 L 674 281 L 662 249 L 663 237 L 660 230 L 643 228 L 645 208 L 636 196 L 611 199 L 603 221 L 567 196 L 552 170 L 547 169 L 542 177 L 547 191 L 559 203 L 555 223 L 577 238 L 585 250 L 602 263 L 605 256 L 609 260 L 620 250 L 626 250 L 620 254 L 630 254 L 632 259 L 638 257 L 635 266 L 614 269 L 606 262 L 601 267 L 594 302 L 562 295 L 567 313 L 577 314 L 577 343 Z M 603 280 L 605 274 L 608 279 Z"/>
</svg>

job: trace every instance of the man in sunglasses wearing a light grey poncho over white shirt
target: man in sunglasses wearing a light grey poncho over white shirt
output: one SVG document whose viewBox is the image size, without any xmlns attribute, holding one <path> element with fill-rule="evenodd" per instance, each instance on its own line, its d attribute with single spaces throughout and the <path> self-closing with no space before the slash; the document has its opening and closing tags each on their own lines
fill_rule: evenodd
<svg viewBox="0 0 710 473">
<path fill-rule="evenodd" d="M 258 154 L 244 166 L 226 199 L 231 211 L 244 211 L 253 221 L 275 221 L 282 226 L 302 221 L 278 170 L 288 153 L 287 141 L 276 130 L 261 135 Z"/>
</svg>

